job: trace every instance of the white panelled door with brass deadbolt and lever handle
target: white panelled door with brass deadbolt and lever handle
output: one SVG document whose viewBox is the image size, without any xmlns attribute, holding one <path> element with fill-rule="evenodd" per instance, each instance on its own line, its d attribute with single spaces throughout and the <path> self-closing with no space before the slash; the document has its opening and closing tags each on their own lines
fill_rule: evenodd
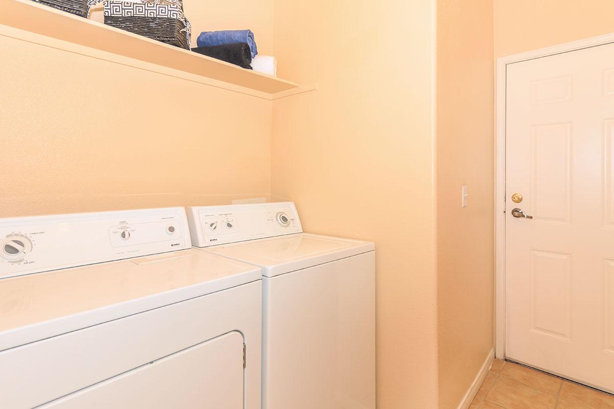
<svg viewBox="0 0 614 409">
<path fill-rule="evenodd" d="M 614 44 L 509 64 L 506 93 L 505 354 L 614 391 Z"/>
</svg>

